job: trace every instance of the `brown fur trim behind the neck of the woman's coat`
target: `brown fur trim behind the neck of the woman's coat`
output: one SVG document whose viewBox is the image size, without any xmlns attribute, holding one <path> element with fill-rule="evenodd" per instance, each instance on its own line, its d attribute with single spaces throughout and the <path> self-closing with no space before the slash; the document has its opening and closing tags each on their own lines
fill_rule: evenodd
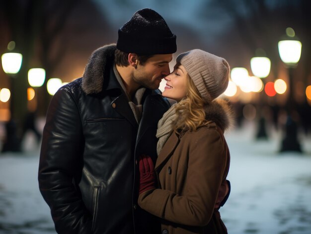
<svg viewBox="0 0 311 234">
<path fill-rule="evenodd" d="M 233 109 L 230 103 L 218 98 L 204 107 L 205 119 L 215 122 L 223 131 L 233 126 Z"/>
</svg>

